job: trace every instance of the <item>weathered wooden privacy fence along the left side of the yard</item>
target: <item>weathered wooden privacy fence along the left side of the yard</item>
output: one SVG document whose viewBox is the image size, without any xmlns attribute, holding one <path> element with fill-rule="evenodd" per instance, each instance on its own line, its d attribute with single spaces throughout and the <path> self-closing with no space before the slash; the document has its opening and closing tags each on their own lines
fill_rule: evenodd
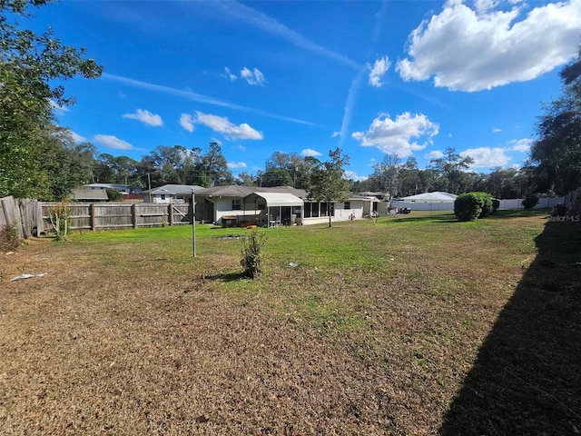
<svg viewBox="0 0 581 436">
<path fill-rule="evenodd" d="M 0 199 L 0 227 L 16 223 L 21 237 L 50 232 L 50 210 L 63 203 Z M 191 204 L 67 203 L 70 229 L 106 230 L 192 223 Z"/>
</svg>

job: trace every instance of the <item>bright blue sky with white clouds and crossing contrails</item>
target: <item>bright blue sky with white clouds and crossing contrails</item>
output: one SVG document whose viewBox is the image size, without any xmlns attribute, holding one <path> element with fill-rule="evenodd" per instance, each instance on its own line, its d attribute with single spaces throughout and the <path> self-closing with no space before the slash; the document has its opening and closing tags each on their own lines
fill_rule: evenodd
<svg viewBox="0 0 581 436">
<path fill-rule="evenodd" d="M 386 153 L 425 168 L 446 147 L 478 172 L 523 163 L 581 42 L 581 0 L 64 1 L 27 25 L 103 64 L 56 109 L 100 153 L 217 140 L 237 174 L 339 146 L 358 179 Z"/>
</svg>

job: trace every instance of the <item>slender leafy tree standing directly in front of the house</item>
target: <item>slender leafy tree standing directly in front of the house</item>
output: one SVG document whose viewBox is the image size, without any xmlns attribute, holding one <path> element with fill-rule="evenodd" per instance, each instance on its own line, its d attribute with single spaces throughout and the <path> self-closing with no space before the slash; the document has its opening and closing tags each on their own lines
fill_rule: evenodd
<svg viewBox="0 0 581 436">
<path fill-rule="evenodd" d="M 328 204 L 329 227 L 331 210 L 335 202 L 342 202 L 349 196 L 349 180 L 345 178 L 343 165 L 349 164 L 349 156 L 341 154 L 338 147 L 329 152 L 330 160 L 318 162 L 310 178 L 309 198 Z"/>
</svg>

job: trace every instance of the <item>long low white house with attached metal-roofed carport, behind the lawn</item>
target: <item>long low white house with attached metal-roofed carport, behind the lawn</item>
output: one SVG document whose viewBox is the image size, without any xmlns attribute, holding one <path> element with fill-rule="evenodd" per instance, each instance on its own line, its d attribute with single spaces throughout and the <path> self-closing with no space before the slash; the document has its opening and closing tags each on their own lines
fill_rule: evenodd
<svg viewBox="0 0 581 436">
<path fill-rule="evenodd" d="M 377 211 L 379 199 L 353 194 L 345 202 L 310 201 L 307 192 L 289 186 L 261 188 L 253 186 L 217 186 L 196 190 L 196 217 L 202 223 L 257 223 L 278 225 L 327 223 L 363 218 Z"/>
</svg>

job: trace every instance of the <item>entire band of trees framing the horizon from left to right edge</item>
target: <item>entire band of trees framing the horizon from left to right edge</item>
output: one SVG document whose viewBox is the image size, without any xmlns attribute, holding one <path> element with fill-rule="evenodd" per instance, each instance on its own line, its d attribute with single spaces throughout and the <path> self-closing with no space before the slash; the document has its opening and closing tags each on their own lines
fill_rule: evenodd
<svg viewBox="0 0 581 436">
<path fill-rule="evenodd" d="M 103 66 L 86 58 L 84 49 L 62 45 L 52 30 L 44 34 L 21 27 L 16 18 L 30 18 L 29 6 L 50 0 L 0 1 L 0 197 L 60 201 L 87 183 L 121 183 L 143 188 L 162 184 L 227 184 L 294 186 L 311 191 L 323 169 L 349 162 L 340 149 L 330 161 L 275 152 L 256 174 L 234 176 L 220 144 L 206 150 L 183 145 L 158 145 L 137 161 L 128 156 L 99 154 L 94 144 L 76 144 L 70 130 L 55 124 L 54 107 L 74 104 L 62 85 L 74 76 L 99 77 Z M 15 18 L 16 17 L 16 18 Z M 537 141 L 523 167 L 468 171 L 472 160 L 453 148 L 419 169 L 409 157 L 403 162 L 386 154 L 366 180 L 350 180 L 353 192 L 406 196 L 430 191 L 482 191 L 497 198 L 560 195 L 581 186 L 581 49 L 560 73 L 562 94 L 544 107 L 537 120 Z M 330 165 L 330 163 L 333 163 Z"/>
</svg>

